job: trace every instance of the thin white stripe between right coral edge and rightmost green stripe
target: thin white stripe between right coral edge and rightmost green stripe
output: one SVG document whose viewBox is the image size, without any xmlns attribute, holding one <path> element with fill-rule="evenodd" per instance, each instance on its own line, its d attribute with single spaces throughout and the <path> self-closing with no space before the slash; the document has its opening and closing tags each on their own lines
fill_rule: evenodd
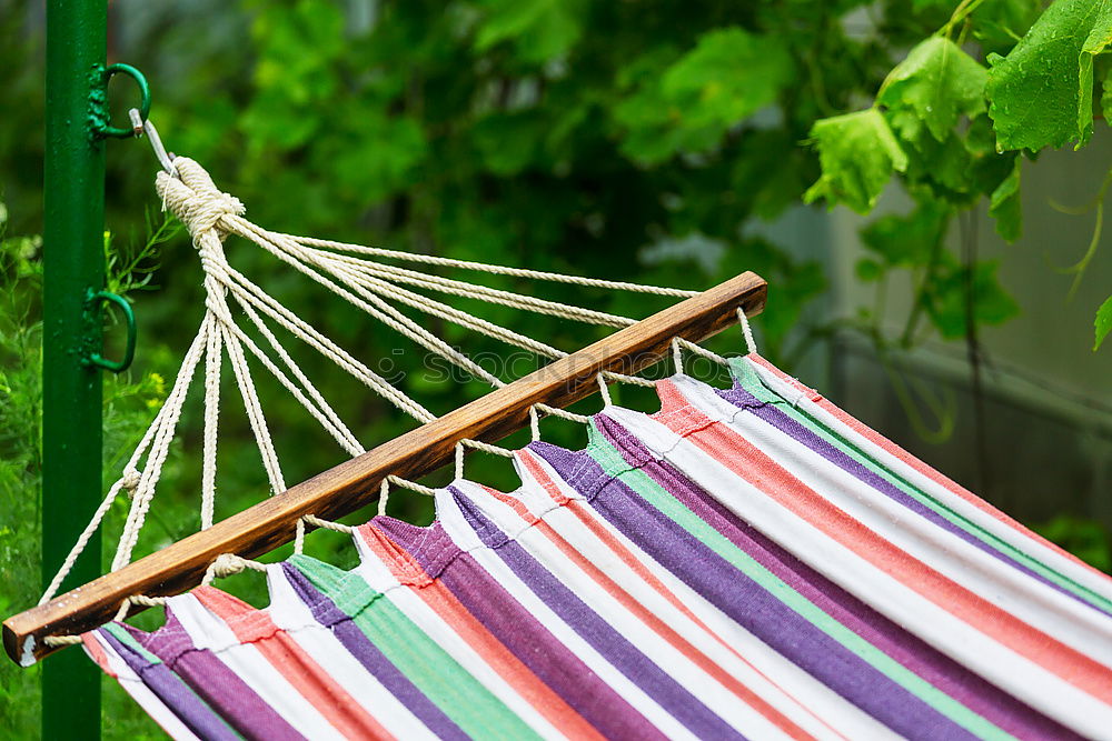
<svg viewBox="0 0 1112 741">
<path fill-rule="evenodd" d="M 906 461 L 868 440 L 861 432 L 857 432 L 833 413 L 823 409 L 820 404 L 812 401 L 807 394 L 781 379 L 764 366 L 752 360 L 746 360 L 746 362 L 759 375 L 770 390 L 784 398 L 788 403 L 803 409 L 810 417 L 815 418 L 824 425 L 835 430 L 838 435 L 845 438 L 855 448 L 865 451 L 870 458 L 895 475 L 907 481 L 912 487 L 939 500 L 961 517 L 986 532 L 992 533 L 1016 550 L 1026 553 L 1050 569 L 1058 571 L 1063 577 L 1112 601 L 1112 580 L 1109 578 L 1095 573 L 1042 541 L 1030 537 L 1022 530 L 1017 530 L 1006 522 L 997 520 L 964 497 L 954 493 L 947 487 L 921 473 Z"/>
</svg>

